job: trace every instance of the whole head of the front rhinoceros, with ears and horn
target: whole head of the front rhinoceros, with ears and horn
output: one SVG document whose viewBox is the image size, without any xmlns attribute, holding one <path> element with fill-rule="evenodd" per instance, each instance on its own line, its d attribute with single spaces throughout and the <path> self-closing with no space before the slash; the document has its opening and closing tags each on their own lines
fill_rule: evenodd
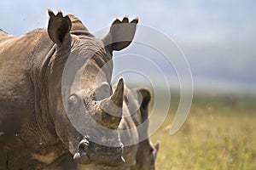
<svg viewBox="0 0 256 170">
<path fill-rule="evenodd" d="M 49 68 L 49 108 L 56 133 L 79 163 L 117 166 L 124 161 L 115 131 L 122 117 L 124 82 L 119 79 L 112 91 L 112 54 L 131 43 L 137 22 L 114 20 L 108 34 L 98 39 L 73 15 L 49 10 L 48 34 L 56 44 Z"/>
</svg>

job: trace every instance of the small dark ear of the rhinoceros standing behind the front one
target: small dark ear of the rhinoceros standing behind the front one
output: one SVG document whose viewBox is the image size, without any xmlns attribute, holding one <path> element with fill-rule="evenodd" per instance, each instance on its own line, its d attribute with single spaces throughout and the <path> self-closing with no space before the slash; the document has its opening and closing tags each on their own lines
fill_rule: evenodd
<svg viewBox="0 0 256 170">
<path fill-rule="evenodd" d="M 148 119 L 148 104 L 151 100 L 150 90 L 147 88 L 137 89 L 138 100 L 140 103 L 140 111 L 143 122 Z"/>
</svg>

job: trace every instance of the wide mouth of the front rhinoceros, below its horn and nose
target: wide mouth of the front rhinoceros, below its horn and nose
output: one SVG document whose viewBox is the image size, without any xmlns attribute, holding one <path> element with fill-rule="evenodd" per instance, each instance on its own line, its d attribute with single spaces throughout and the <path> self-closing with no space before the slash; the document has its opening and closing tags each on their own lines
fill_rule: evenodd
<svg viewBox="0 0 256 170">
<path fill-rule="evenodd" d="M 89 141 L 89 139 L 82 139 L 79 143 L 78 152 L 74 154 L 73 159 L 84 165 L 95 163 L 97 165 L 117 167 L 125 162 L 122 155 L 122 143 L 119 143 L 119 147 L 109 147 L 96 144 Z"/>
</svg>

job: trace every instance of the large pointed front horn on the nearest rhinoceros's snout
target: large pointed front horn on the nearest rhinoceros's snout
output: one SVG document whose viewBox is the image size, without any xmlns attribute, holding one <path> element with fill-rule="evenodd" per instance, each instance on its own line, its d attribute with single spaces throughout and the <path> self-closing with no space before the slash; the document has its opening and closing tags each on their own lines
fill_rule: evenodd
<svg viewBox="0 0 256 170">
<path fill-rule="evenodd" d="M 119 127 L 123 112 L 123 96 L 124 81 L 120 78 L 114 93 L 108 99 L 102 100 L 100 104 L 102 111 L 100 123 L 103 127 L 111 129 Z"/>
</svg>

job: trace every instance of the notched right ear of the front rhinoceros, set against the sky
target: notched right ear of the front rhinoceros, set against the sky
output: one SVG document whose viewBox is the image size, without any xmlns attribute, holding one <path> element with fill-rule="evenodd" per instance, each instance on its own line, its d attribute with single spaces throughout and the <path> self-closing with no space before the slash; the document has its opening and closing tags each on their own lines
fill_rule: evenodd
<svg viewBox="0 0 256 170">
<path fill-rule="evenodd" d="M 108 34 L 102 39 L 110 53 L 112 53 L 113 50 L 119 51 L 126 48 L 131 43 L 135 35 L 137 23 L 138 18 L 129 22 L 127 17 L 124 17 L 122 21 L 119 19 L 113 21 Z"/>
</svg>

